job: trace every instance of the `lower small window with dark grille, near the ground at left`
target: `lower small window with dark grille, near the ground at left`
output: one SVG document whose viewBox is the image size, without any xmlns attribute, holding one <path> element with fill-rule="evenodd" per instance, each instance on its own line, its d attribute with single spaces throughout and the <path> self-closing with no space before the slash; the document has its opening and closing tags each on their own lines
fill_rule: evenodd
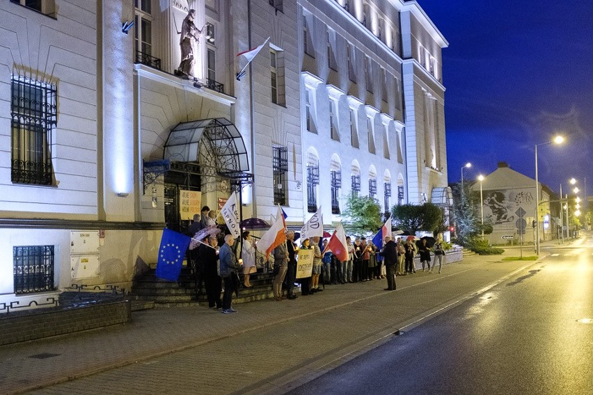
<svg viewBox="0 0 593 395">
<path fill-rule="evenodd" d="M 54 290 L 54 245 L 13 247 L 15 293 Z"/>
</svg>

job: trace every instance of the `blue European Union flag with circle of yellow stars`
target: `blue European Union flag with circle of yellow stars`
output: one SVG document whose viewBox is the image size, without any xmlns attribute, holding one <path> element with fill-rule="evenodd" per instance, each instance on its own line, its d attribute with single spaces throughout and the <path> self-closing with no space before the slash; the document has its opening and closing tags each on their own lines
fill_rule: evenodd
<svg viewBox="0 0 593 395">
<path fill-rule="evenodd" d="M 173 232 L 171 229 L 163 229 L 159 260 L 157 261 L 157 277 L 163 280 L 177 281 L 189 241 L 191 239 L 184 234 Z"/>
</svg>

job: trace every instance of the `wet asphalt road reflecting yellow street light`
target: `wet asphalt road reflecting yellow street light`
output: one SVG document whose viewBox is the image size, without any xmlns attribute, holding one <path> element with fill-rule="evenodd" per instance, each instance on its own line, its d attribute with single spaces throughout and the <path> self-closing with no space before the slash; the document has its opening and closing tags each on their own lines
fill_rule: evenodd
<svg viewBox="0 0 593 395">
<path fill-rule="evenodd" d="M 593 394 L 593 239 L 544 252 L 289 394 Z"/>
</svg>

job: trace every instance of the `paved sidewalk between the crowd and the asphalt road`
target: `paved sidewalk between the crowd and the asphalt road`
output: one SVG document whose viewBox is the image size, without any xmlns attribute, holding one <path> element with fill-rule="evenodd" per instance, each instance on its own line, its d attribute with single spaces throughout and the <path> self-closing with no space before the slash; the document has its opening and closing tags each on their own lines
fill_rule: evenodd
<svg viewBox="0 0 593 395">
<path fill-rule="evenodd" d="M 247 303 L 236 314 L 134 312 L 127 325 L 0 347 L 0 393 L 280 394 L 292 379 L 317 376 L 532 264 L 476 255 L 441 275 L 397 277 L 397 291 L 374 280 Z M 31 357 L 42 353 L 58 355 Z"/>
</svg>

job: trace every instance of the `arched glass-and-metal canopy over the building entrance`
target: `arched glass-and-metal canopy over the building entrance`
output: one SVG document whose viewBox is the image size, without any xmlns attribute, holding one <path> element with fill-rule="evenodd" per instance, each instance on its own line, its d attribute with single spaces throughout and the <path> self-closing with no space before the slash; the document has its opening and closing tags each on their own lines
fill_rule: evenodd
<svg viewBox="0 0 593 395">
<path fill-rule="evenodd" d="M 177 124 L 164 147 L 163 159 L 198 163 L 199 150 L 207 154 L 221 175 L 249 170 L 245 143 L 237 127 L 226 118 L 210 118 Z"/>
</svg>

